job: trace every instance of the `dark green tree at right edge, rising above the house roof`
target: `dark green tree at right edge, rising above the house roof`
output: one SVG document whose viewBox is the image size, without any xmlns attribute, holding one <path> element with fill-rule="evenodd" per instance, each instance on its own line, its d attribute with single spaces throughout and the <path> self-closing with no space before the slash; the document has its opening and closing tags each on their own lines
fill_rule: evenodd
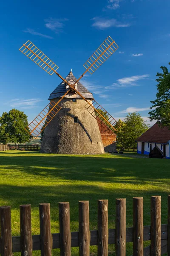
<svg viewBox="0 0 170 256">
<path fill-rule="evenodd" d="M 153 110 L 149 112 L 149 118 L 151 121 L 156 120 L 160 125 L 170 128 L 170 73 L 167 67 L 161 66 L 160 68 L 162 73 L 156 74 L 158 92 L 156 100 L 151 101 Z"/>
</svg>

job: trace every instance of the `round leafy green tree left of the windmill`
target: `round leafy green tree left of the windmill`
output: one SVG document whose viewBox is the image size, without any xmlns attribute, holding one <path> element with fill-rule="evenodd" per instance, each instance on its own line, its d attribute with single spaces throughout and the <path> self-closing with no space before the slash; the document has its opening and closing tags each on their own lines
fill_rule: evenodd
<svg viewBox="0 0 170 256">
<path fill-rule="evenodd" d="M 25 130 L 28 126 L 28 119 L 24 112 L 11 109 L 8 113 L 3 112 L 0 117 L 0 143 L 9 142 L 26 143 L 31 139 L 31 135 Z"/>
</svg>

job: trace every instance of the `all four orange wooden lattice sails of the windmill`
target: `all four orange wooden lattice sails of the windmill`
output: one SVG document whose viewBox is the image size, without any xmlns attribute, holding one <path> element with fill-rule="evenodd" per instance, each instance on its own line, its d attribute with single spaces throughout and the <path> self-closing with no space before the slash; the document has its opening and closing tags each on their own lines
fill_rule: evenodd
<svg viewBox="0 0 170 256">
<path fill-rule="evenodd" d="M 87 102 L 85 108 L 89 113 L 108 131 L 108 134 L 113 134 L 115 129 L 116 120 L 111 116 L 104 108 L 102 108 L 99 103 L 94 99 L 89 101 L 86 99 L 81 92 L 77 90 L 77 84 L 79 80 L 85 75 L 86 72 L 93 74 L 117 49 L 118 45 L 115 41 L 108 36 L 105 41 L 96 49 L 96 51 L 91 55 L 91 57 L 83 65 L 85 67 L 85 72 L 76 79 L 75 81 L 68 81 L 64 79 L 59 73 L 57 73 L 58 66 L 51 61 L 38 47 L 36 47 L 31 41 L 27 41 L 20 47 L 20 51 L 30 58 L 39 67 L 45 70 L 49 75 L 56 73 L 62 81 L 67 84 L 68 90 L 65 92 L 57 102 L 51 101 L 40 114 L 28 125 L 28 132 L 34 137 L 38 137 L 40 133 L 45 129 L 45 127 L 51 122 L 52 119 L 61 110 L 59 102 L 65 97 L 70 95 L 70 93 L 77 93 L 82 99 Z M 71 94 L 71 95 L 72 95 Z M 104 114 L 103 114 L 104 113 Z M 29 131 L 31 130 L 31 132 Z"/>
</svg>

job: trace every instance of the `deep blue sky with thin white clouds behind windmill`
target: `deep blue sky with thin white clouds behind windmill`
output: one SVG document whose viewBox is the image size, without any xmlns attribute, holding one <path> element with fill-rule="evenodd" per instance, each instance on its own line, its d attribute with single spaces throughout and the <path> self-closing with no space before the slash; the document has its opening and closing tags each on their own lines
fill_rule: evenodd
<svg viewBox="0 0 170 256">
<path fill-rule="evenodd" d="M 119 49 L 82 79 L 115 118 L 138 111 L 147 120 L 156 96 L 156 72 L 170 62 L 169 0 L 14 1 L 1 3 L 0 115 L 17 108 L 28 121 L 48 104 L 61 80 L 49 76 L 18 49 L 30 40 L 74 76 L 108 37 Z"/>
</svg>

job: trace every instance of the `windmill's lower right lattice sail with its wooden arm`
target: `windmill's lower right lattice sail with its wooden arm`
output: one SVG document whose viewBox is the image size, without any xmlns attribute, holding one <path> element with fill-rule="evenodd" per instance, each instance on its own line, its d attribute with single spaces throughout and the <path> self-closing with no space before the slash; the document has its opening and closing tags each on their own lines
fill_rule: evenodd
<svg viewBox="0 0 170 256">
<path fill-rule="evenodd" d="M 102 128 L 107 131 L 108 134 L 113 134 L 116 131 L 115 125 L 117 123 L 116 119 L 111 116 L 98 102 L 95 100 L 88 101 L 84 96 L 81 95 L 76 89 L 74 91 L 82 97 L 82 99 L 87 102 L 85 108 L 91 113 L 92 116 L 97 120 L 97 122 L 102 126 Z"/>
</svg>

